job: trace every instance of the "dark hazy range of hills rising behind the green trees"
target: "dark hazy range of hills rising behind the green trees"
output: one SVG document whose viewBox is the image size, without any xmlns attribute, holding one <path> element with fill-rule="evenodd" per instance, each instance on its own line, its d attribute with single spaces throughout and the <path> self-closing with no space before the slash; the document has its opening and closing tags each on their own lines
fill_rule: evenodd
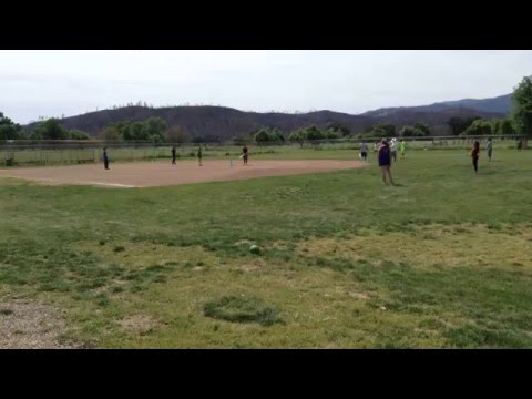
<svg viewBox="0 0 532 399">
<path fill-rule="evenodd" d="M 494 99 L 459 100 L 434 103 L 423 106 L 386 108 L 368 111 L 359 115 L 334 111 L 317 111 L 303 114 L 243 112 L 225 106 L 171 106 L 147 108 L 125 106 L 115 110 L 103 110 L 83 115 L 64 117 L 66 129 L 79 129 L 92 135 L 100 133 L 111 122 L 144 121 L 151 116 L 162 117 L 168 126 L 182 126 L 193 136 L 216 136 L 231 139 L 247 136 L 260 127 L 279 127 L 289 132 L 316 124 L 326 127 L 337 124 L 359 133 L 370 126 L 395 124 L 398 129 L 416 122 L 427 123 L 433 134 L 449 134 L 447 122 L 452 116 L 480 116 L 483 119 L 504 117 L 510 112 L 510 94 Z M 31 129 L 33 124 L 27 125 Z"/>
</svg>

